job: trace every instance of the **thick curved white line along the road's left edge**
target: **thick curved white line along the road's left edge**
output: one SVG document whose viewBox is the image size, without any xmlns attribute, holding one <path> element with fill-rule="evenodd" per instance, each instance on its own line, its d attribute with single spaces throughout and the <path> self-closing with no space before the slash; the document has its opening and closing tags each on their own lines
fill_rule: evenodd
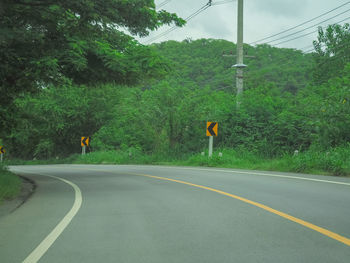
<svg viewBox="0 0 350 263">
<path fill-rule="evenodd" d="M 18 170 L 16 171 L 18 172 Z M 56 180 L 60 180 L 66 184 L 69 184 L 71 187 L 73 187 L 74 192 L 75 192 L 75 200 L 72 208 L 70 211 L 65 215 L 65 217 L 57 224 L 57 226 L 51 231 L 50 234 L 47 235 L 47 237 L 41 241 L 41 243 L 29 254 L 29 256 L 26 257 L 26 259 L 23 261 L 23 263 L 35 263 L 40 260 L 40 258 L 46 253 L 46 251 L 52 246 L 52 244 L 56 241 L 56 239 L 62 234 L 64 229 L 69 225 L 69 223 L 72 221 L 74 216 L 78 213 L 81 204 L 82 204 L 82 195 L 81 195 L 81 190 L 80 188 L 65 179 L 52 176 L 52 175 L 47 175 L 47 174 L 40 174 L 40 173 L 33 173 L 33 174 L 38 174 L 38 175 L 43 175 L 43 176 L 48 176 L 51 178 L 54 178 Z"/>
</svg>

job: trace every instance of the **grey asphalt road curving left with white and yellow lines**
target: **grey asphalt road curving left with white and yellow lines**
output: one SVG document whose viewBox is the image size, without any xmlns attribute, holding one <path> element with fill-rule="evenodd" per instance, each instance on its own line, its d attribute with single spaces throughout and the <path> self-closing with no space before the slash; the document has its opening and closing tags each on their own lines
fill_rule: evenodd
<svg viewBox="0 0 350 263">
<path fill-rule="evenodd" d="M 350 262 L 350 178 L 162 166 L 11 170 L 0 262 Z"/>
</svg>

